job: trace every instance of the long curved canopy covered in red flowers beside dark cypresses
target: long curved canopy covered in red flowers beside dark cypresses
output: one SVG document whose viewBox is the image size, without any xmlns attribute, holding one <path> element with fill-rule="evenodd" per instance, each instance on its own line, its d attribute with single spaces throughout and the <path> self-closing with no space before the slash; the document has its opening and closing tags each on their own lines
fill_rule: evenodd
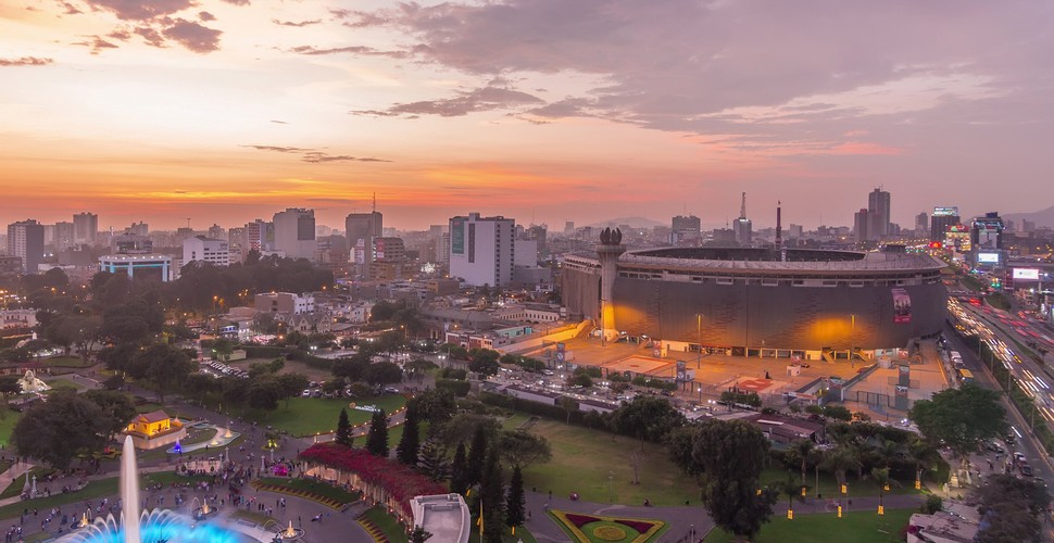
<svg viewBox="0 0 1054 543">
<path fill-rule="evenodd" d="M 349 449 L 334 443 L 316 443 L 300 458 L 341 471 L 353 471 L 369 484 L 385 489 L 409 509 L 414 496 L 446 494 L 447 488 L 422 476 L 404 464 L 374 456 L 364 449 Z"/>
</svg>

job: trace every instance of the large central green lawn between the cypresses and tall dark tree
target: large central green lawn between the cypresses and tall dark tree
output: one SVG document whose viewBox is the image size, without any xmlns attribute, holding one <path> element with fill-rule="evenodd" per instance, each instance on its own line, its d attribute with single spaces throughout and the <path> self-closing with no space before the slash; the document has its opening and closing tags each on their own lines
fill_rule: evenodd
<svg viewBox="0 0 1054 543">
<path fill-rule="evenodd" d="M 644 443 L 640 484 L 632 484 L 630 453 L 639 450 L 639 441 L 547 419 L 539 420 L 530 431 L 549 440 L 553 458 L 524 469 L 527 489 L 552 491 L 561 497 L 577 492 L 586 502 L 607 503 L 611 475 L 616 504 L 640 505 L 644 500 L 655 505 L 683 505 L 686 500 L 699 503 L 695 481 L 669 462 L 661 445 Z"/>
</svg>

